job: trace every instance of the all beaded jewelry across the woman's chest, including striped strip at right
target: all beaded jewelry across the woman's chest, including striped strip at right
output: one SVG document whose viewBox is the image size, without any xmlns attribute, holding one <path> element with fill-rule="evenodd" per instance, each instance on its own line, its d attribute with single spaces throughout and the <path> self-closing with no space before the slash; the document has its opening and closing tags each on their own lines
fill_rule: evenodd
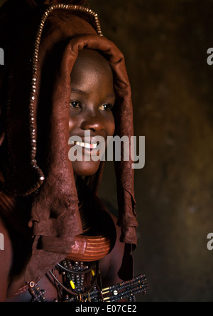
<svg viewBox="0 0 213 316">
<path fill-rule="evenodd" d="M 58 273 L 62 275 L 62 283 Z M 133 280 L 102 289 L 98 262 L 87 265 L 66 259 L 49 271 L 48 275 L 53 278 L 58 292 L 55 302 L 119 302 L 124 299 L 136 302 L 136 295 L 146 295 L 148 290 L 146 275 L 138 275 Z M 31 282 L 28 290 L 32 302 L 46 302 L 45 290 L 40 290 L 38 285 Z"/>
</svg>

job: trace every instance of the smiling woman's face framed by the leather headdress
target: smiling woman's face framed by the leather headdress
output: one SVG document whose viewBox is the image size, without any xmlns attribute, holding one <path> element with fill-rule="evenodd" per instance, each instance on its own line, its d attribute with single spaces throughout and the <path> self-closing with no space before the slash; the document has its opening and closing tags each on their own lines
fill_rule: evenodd
<svg viewBox="0 0 213 316">
<path fill-rule="evenodd" d="M 99 169 L 100 160 L 87 161 L 95 149 L 87 148 L 88 139 L 84 139 L 84 132 L 90 132 L 91 139 L 102 136 L 107 144 L 107 137 L 113 136 L 115 130 L 111 112 L 115 103 L 113 74 L 107 60 L 97 51 L 80 51 L 71 73 L 71 89 L 70 137 L 82 138 L 81 143 L 71 145 L 82 150 L 82 161 L 72 162 L 72 166 L 75 175 L 92 176 Z"/>
</svg>

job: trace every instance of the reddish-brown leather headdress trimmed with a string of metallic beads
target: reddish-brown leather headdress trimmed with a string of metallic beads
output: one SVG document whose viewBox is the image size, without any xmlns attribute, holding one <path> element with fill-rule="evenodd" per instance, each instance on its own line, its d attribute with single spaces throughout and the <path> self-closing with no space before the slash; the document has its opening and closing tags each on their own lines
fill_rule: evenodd
<svg viewBox="0 0 213 316">
<path fill-rule="evenodd" d="M 102 36 L 97 14 L 75 2 L 84 1 L 9 0 L 0 11 L 0 40 L 6 56 L 0 73 L 1 191 L 8 196 L 33 196 L 34 243 L 27 282 L 65 258 L 75 236 L 82 233 L 68 159 L 68 126 L 70 73 L 83 48 L 107 58 L 114 73 L 115 135 L 133 135 L 124 56 Z M 132 161 L 115 164 L 121 241 L 136 245 Z M 51 251 L 45 248 L 48 241 Z"/>
</svg>

